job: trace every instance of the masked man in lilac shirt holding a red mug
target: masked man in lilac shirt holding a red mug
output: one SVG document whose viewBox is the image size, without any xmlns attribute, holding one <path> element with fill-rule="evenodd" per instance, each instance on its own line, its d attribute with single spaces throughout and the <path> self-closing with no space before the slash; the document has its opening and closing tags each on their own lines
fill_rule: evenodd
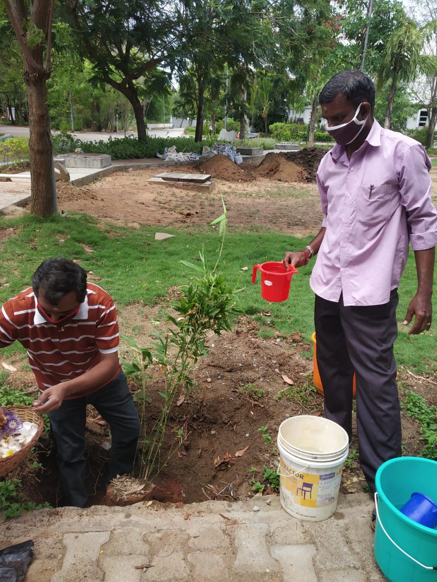
<svg viewBox="0 0 437 582">
<path fill-rule="evenodd" d="M 420 143 L 382 129 L 373 119 L 375 86 L 356 69 L 337 73 L 319 96 L 336 144 L 317 173 L 322 228 L 311 244 L 287 252 L 300 267 L 318 254 L 310 285 L 315 293 L 317 364 L 325 414 L 351 438 L 353 374 L 357 383 L 360 463 L 375 491 L 376 470 L 401 456 L 401 423 L 393 343 L 397 287 L 414 250 L 417 293 L 404 325 L 429 330 L 437 244 L 431 203 L 431 161 Z"/>
</svg>

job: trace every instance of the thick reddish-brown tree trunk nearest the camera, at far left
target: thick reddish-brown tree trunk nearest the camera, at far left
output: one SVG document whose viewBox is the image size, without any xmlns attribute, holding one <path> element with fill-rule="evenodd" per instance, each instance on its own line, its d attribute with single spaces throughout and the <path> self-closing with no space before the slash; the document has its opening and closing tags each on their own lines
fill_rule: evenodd
<svg viewBox="0 0 437 582">
<path fill-rule="evenodd" d="M 52 180 L 52 144 L 46 81 L 51 74 L 51 33 L 54 0 L 4 0 L 10 24 L 23 55 L 29 103 L 30 211 L 47 217 L 56 210 Z"/>
</svg>

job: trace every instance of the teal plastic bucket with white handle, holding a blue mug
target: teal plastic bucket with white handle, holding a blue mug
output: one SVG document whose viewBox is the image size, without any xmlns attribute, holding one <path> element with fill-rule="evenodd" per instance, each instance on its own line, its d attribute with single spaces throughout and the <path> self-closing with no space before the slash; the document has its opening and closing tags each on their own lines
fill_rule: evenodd
<svg viewBox="0 0 437 582">
<path fill-rule="evenodd" d="M 400 512 L 415 491 L 437 498 L 437 462 L 398 457 L 376 472 L 375 560 L 389 582 L 437 582 L 437 530 Z"/>
</svg>

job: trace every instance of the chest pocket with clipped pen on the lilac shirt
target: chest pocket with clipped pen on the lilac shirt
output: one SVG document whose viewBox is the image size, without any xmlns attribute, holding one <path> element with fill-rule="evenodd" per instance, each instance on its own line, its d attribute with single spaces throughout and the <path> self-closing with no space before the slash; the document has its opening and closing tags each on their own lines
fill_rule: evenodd
<svg viewBox="0 0 437 582">
<path fill-rule="evenodd" d="M 382 186 L 358 186 L 357 221 L 365 225 L 377 225 L 393 216 L 400 205 L 399 187 L 394 184 Z"/>
</svg>

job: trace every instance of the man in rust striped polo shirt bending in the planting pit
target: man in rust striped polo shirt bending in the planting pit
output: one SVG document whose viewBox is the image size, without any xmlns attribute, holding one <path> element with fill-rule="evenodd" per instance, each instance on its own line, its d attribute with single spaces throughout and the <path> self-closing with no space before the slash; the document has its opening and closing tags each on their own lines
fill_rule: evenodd
<svg viewBox="0 0 437 582">
<path fill-rule="evenodd" d="M 86 405 L 111 430 L 110 480 L 131 473 L 140 432 L 138 413 L 118 360 L 114 301 L 87 283 L 82 267 L 51 258 L 37 268 L 32 288 L 6 301 L 0 347 L 18 340 L 27 350 L 41 396 L 34 404 L 50 418 L 66 505 L 84 507 Z"/>
</svg>

